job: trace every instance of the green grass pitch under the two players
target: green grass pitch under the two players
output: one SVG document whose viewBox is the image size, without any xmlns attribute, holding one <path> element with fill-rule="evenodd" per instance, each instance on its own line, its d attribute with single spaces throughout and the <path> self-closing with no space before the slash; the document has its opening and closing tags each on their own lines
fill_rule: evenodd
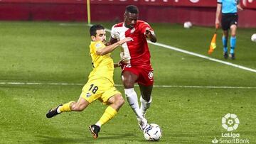
<svg viewBox="0 0 256 144">
<path fill-rule="evenodd" d="M 103 23 L 106 28 L 112 24 Z M 151 26 L 158 43 L 208 55 L 213 28 L 185 29 L 169 23 Z M 149 143 L 127 102 L 112 121 L 102 126 L 97 140 L 87 127 L 106 108 L 99 101 L 82 112 L 46 118 L 51 107 L 76 101 L 82 89 L 79 84 L 87 82 L 92 70 L 88 30 L 85 23 L 0 22 L 0 143 Z M 256 43 L 250 40 L 255 32 L 255 28 L 238 28 L 237 59 L 223 60 L 218 31 L 217 48 L 210 57 L 256 70 Z M 221 138 L 221 133 L 228 133 L 221 123 L 226 113 L 235 113 L 240 120 L 233 133 L 256 143 L 255 72 L 156 45 L 149 47 L 155 85 L 180 86 L 154 87 L 146 118 L 163 131 L 156 143 L 212 143 L 214 138 Z M 117 62 L 119 50 L 112 57 Z M 114 71 L 116 84 L 121 84 L 120 72 L 119 68 Z M 8 82 L 33 84 L 5 84 Z M 124 93 L 121 86 L 117 89 Z"/>
</svg>

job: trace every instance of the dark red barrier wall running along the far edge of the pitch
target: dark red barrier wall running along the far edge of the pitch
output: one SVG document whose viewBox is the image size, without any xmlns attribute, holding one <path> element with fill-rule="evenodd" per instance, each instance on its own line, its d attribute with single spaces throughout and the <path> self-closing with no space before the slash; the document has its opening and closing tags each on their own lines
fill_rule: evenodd
<svg viewBox="0 0 256 144">
<path fill-rule="evenodd" d="M 256 27 L 256 0 L 241 0 L 240 27 Z M 90 0 L 92 21 L 122 21 L 125 6 L 139 7 L 148 22 L 214 26 L 217 0 Z M 87 21 L 86 0 L 1 0 L 0 20 Z"/>
</svg>

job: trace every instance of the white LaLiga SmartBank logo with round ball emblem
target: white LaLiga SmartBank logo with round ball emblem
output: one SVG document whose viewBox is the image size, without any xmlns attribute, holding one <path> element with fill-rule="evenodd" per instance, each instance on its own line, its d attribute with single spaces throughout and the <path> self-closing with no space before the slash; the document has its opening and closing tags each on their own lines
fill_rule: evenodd
<svg viewBox="0 0 256 144">
<path fill-rule="evenodd" d="M 240 138 L 240 133 L 235 133 L 240 121 L 234 113 L 227 113 L 221 119 L 222 127 L 226 133 L 221 133 L 221 138 L 214 138 L 212 143 L 250 143 L 248 138 Z"/>
</svg>

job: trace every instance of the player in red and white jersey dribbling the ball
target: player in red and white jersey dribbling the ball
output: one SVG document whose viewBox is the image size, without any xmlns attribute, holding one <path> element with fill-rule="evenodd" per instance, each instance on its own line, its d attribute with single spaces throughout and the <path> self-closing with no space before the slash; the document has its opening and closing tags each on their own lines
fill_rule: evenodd
<svg viewBox="0 0 256 144">
<path fill-rule="evenodd" d="M 156 43 L 156 35 L 149 23 L 138 20 L 139 9 L 137 6 L 129 5 L 124 12 L 124 22 L 117 23 L 112 27 L 110 43 L 130 37 L 133 41 L 122 44 L 122 83 L 124 94 L 129 105 L 137 115 L 139 127 L 143 131 L 149 126 L 146 121 L 146 109 L 151 104 L 151 92 L 154 84 L 153 68 L 150 62 L 149 46 L 146 41 Z M 134 84 L 139 84 L 140 101 L 134 91 Z"/>
</svg>

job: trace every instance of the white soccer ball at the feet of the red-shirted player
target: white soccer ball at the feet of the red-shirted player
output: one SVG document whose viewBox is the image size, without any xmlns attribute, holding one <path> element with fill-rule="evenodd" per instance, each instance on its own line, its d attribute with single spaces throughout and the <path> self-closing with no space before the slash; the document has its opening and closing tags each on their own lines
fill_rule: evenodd
<svg viewBox="0 0 256 144">
<path fill-rule="evenodd" d="M 158 141 L 161 138 L 161 128 L 156 123 L 151 123 L 151 127 L 144 130 L 144 137 L 149 141 Z"/>
</svg>

